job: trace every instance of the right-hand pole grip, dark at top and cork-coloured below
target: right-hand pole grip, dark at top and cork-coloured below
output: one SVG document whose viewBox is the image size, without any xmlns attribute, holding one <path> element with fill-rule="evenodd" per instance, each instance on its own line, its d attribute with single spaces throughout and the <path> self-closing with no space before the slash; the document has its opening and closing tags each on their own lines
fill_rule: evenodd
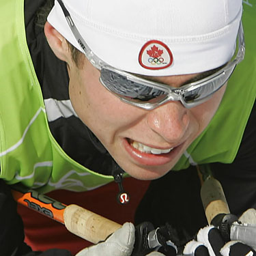
<svg viewBox="0 0 256 256">
<path fill-rule="evenodd" d="M 221 183 L 212 176 L 208 177 L 201 186 L 201 200 L 208 224 L 216 215 L 230 213 Z"/>
</svg>

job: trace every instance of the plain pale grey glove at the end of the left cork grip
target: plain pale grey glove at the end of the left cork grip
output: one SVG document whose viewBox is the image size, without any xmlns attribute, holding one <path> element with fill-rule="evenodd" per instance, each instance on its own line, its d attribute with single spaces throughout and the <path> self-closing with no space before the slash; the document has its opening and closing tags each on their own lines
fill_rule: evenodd
<svg viewBox="0 0 256 256">
<path fill-rule="evenodd" d="M 135 227 L 132 223 L 124 223 L 104 242 L 83 249 L 76 256 L 130 256 L 135 242 Z M 165 256 L 152 252 L 147 256 Z"/>
</svg>

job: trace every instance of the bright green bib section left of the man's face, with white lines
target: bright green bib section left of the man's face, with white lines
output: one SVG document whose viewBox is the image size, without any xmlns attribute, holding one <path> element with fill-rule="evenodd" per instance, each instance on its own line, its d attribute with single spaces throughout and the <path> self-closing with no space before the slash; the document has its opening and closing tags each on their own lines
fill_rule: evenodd
<svg viewBox="0 0 256 256">
<path fill-rule="evenodd" d="M 1 1 L 0 15 L 0 178 L 42 193 L 90 190 L 113 181 L 72 160 L 48 128 L 26 42 L 24 0 Z"/>
</svg>

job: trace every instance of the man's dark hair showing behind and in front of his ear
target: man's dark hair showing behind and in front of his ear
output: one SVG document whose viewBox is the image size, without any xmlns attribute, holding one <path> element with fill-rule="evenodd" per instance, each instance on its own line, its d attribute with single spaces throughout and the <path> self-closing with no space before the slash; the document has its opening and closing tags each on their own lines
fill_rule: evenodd
<svg viewBox="0 0 256 256">
<path fill-rule="evenodd" d="M 44 24 L 46 23 L 47 16 L 50 13 L 51 9 L 54 6 L 55 0 L 45 0 L 43 5 L 38 9 L 38 12 L 36 12 L 35 16 L 35 26 L 43 29 Z M 70 49 L 70 53 L 72 56 L 72 60 L 76 64 L 77 67 L 81 67 L 83 65 L 82 56 L 83 53 L 81 51 L 77 50 L 68 40 L 66 40 L 68 44 L 68 48 Z"/>
</svg>

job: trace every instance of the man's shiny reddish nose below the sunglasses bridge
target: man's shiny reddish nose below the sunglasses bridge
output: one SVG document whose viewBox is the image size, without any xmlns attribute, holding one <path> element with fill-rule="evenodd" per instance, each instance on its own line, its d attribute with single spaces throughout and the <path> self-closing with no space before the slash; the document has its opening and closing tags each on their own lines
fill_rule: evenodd
<svg viewBox="0 0 256 256">
<path fill-rule="evenodd" d="M 189 122 L 188 109 L 180 102 L 169 102 L 147 115 L 147 125 L 170 144 L 182 142 Z"/>
</svg>

